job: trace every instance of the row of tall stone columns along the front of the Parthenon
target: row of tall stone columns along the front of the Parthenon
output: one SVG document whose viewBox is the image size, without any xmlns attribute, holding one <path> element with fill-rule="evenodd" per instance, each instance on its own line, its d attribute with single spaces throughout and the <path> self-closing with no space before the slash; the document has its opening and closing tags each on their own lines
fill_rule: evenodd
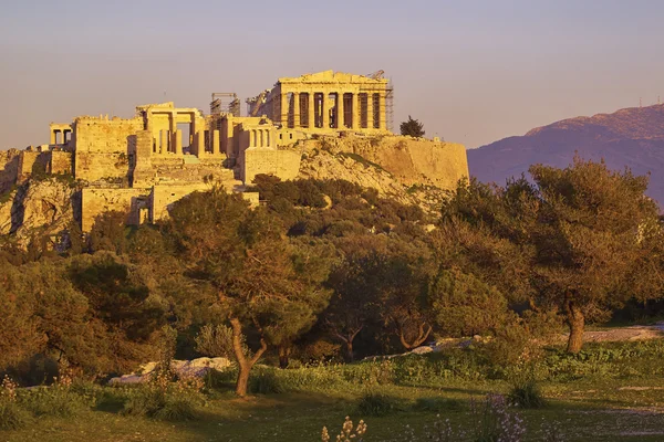
<svg viewBox="0 0 664 442">
<path fill-rule="evenodd" d="M 308 128 L 331 128 L 330 125 L 330 110 L 334 108 L 335 113 L 335 124 L 332 128 L 336 129 L 386 129 L 386 114 L 385 114 L 385 92 L 369 92 L 369 93 L 352 93 L 352 92 L 293 92 L 292 99 L 289 101 L 289 93 L 282 92 L 280 94 L 280 115 L 279 119 L 284 127 L 291 128 L 302 128 L 302 115 L 301 115 L 301 99 L 300 95 L 307 95 L 307 127 Z M 330 107 L 330 95 L 333 94 L 336 96 L 336 103 L 334 107 Z M 346 125 L 345 118 L 345 96 L 351 95 L 351 122 Z M 361 115 L 360 112 L 360 96 L 366 98 L 364 104 L 365 115 L 366 115 L 366 125 L 361 125 Z M 320 99 L 320 125 L 317 125 L 317 96 L 321 97 Z M 292 106 L 291 106 L 292 103 Z M 376 118 L 377 114 L 377 118 Z M 290 116 L 292 115 L 292 123 Z M 362 126 L 362 127 L 361 127 Z"/>
</svg>

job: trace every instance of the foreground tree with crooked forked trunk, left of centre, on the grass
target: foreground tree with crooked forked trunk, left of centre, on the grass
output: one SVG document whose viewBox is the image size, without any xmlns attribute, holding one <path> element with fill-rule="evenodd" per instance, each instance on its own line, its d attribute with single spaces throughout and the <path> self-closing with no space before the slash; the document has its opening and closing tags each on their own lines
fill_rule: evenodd
<svg viewBox="0 0 664 442">
<path fill-rule="evenodd" d="M 217 292 L 239 366 L 236 393 L 243 397 L 251 368 L 268 346 L 308 329 L 326 305 L 328 292 L 307 274 L 307 262 L 299 261 L 300 251 L 278 219 L 221 188 L 178 201 L 163 231 L 188 276 Z M 243 344 L 248 336 L 256 336 L 255 351 Z"/>
</svg>

